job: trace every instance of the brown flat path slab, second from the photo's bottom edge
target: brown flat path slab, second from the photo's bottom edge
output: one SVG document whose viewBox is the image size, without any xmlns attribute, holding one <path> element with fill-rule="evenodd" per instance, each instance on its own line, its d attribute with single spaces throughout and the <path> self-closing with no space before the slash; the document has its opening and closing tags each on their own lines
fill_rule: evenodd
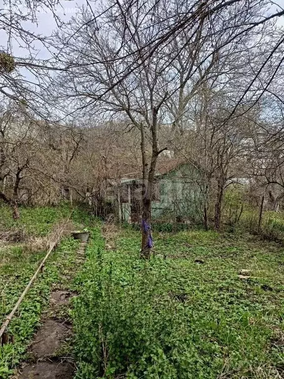
<svg viewBox="0 0 284 379">
<path fill-rule="evenodd" d="M 47 320 L 37 332 L 36 339 L 32 345 L 32 352 L 36 358 L 54 356 L 62 341 L 65 341 L 70 336 L 71 329 L 66 325 L 59 321 Z"/>
</svg>

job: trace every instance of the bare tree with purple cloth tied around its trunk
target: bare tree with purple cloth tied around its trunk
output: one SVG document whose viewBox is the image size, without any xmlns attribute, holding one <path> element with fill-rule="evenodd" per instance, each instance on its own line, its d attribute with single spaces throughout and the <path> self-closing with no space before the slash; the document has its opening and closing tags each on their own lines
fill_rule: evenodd
<svg viewBox="0 0 284 379">
<path fill-rule="evenodd" d="M 140 17 L 142 16 L 143 14 Z M 90 17 L 90 13 L 83 12 L 80 22 L 88 23 Z M 132 22 L 137 38 L 135 41 L 130 40 L 130 43 L 125 46 L 129 51 L 147 38 L 146 34 L 140 33 L 137 22 L 137 20 Z M 163 122 L 163 105 L 168 97 L 167 80 L 163 74 L 167 62 L 162 56 L 151 57 L 143 62 L 141 70 L 112 88 L 113 78 L 119 76 L 121 71 L 121 63 L 108 62 L 108 57 L 114 53 L 114 45 L 119 43 L 119 40 L 124 41 L 126 34 L 131 35 L 132 31 L 124 31 L 123 24 L 114 20 L 111 13 L 108 15 L 108 23 L 104 30 L 96 35 L 95 30 L 95 25 L 88 24 L 87 29 L 82 29 L 80 33 L 77 33 L 76 39 L 69 40 L 68 46 L 65 46 L 66 59 L 76 54 L 80 61 L 80 64 L 74 67 L 77 72 L 75 80 L 74 73 L 70 71 L 64 78 L 69 87 L 67 97 L 71 95 L 72 98 L 75 97 L 77 101 L 82 102 L 81 104 L 86 104 L 87 107 L 83 105 L 85 110 L 94 99 L 100 97 L 101 112 L 111 114 L 117 121 L 125 120 L 127 117 L 128 129 L 136 128 L 140 131 L 143 182 L 141 254 L 144 258 L 148 258 L 152 247 L 150 220 L 155 168 L 159 154 L 166 148 L 159 146 L 158 128 Z M 113 37 L 105 37 L 111 34 Z M 85 40 L 88 41 L 87 45 L 84 43 Z M 93 65 L 94 61 L 101 63 Z M 68 84 L 71 77 L 73 78 L 72 87 Z M 106 88 L 109 91 L 106 96 L 103 96 Z M 66 87 L 64 90 L 66 91 Z M 64 101 L 67 99 L 66 96 L 63 97 Z M 150 146 L 150 151 L 146 150 L 147 146 Z"/>
</svg>

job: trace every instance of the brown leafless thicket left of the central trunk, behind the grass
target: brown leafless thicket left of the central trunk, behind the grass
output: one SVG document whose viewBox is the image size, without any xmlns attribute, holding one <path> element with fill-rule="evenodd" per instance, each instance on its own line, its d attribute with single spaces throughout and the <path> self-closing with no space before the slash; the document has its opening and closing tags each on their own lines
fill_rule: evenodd
<svg viewBox="0 0 284 379">
<path fill-rule="evenodd" d="M 111 123 L 94 128 L 74 120 L 47 123 L 17 102 L 2 102 L 0 200 L 11 206 L 15 219 L 19 204 L 61 200 L 89 202 L 96 215 L 104 215 L 110 181 L 141 164 L 135 137 L 123 136 L 124 128 Z"/>
</svg>

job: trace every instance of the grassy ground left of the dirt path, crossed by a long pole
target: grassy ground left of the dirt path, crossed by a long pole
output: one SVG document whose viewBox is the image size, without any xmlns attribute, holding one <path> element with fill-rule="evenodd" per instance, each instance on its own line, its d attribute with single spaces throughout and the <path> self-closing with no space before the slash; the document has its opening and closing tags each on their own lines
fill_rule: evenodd
<svg viewBox="0 0 284 379">
<path fill-rule="evenodd" d="M 37 243 L 40 238 L 48 235 L 56 223 L 70 215 L 71 209 L 63 205 L 58 208 L 22 208 L 20 212 L 21 218 L 15 222 L 11 218 L 10 209 L 0 207 L 0 231 L 21 230 L 28 241 L 0 245 L 0 322 L 11 311 L 46 254 L 40 248 L 40 243 L 37 249 L 30 241 Z M 75 225 L 84 223 L 87 219 L 84 212 L 74 209 L 72 220 Z M 16 317 L 9 324 L 9 334 L 14 336 L 15 341 L 0 347 L 1 379 L 12 374 L 11 368 L 19 359 L 24 358 L 23 353 L 40 321 L 41 312 L 48 303 L 51 286 L 64 280 L 64 275 L 73 269 L 76 249 L 77 242 L 73 239 L 66 237 L 61 241 L 48 259 L 44 273 L 36 279 Z"/>
</svg>

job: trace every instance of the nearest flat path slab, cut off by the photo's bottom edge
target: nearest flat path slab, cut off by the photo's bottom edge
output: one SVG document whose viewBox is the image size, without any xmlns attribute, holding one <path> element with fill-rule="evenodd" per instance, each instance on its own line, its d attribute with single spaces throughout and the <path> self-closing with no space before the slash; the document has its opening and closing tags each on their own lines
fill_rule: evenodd
<svg viewBox="0 0 284 379">
<path fill-rule="evenodd" d="M 38 362 L 23 368 L 18 379 L 72 379 L 73 374 L 69 362 Z"/>
</svg>

